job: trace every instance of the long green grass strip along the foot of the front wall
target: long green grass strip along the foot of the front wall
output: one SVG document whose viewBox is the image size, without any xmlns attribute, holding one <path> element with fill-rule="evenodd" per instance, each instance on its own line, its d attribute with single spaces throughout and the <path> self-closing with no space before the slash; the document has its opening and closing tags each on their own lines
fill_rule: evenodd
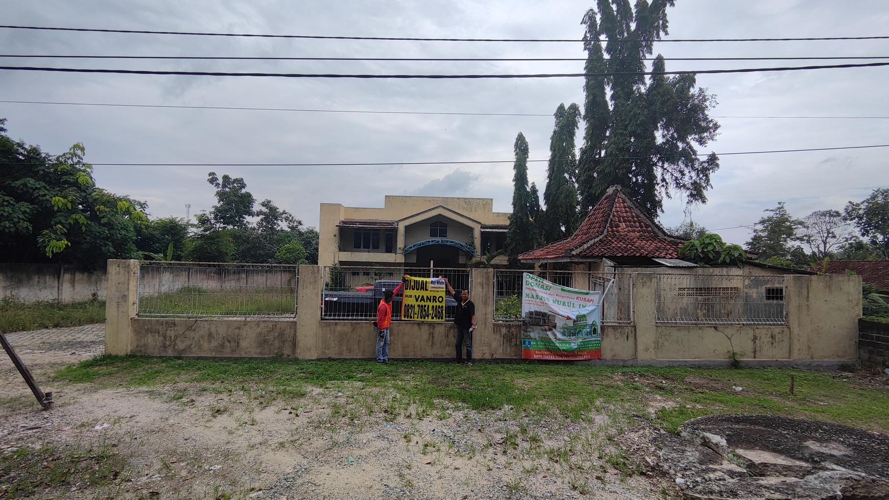
<svg viewBox="0 0 889 500">
<path fill-rule="evenodd" d="M 795 394 L 789 394 L 790 377 Z M 850 379 L 851 377 L 851 379 Z M 382 413 L 435 417 L 441 401 L 477 411 L 561 416 L 578 421 L 608 414 L 615 425 L 652 415 L 678 425 L 711 413 L 803 417 L 889 432 L 889 390 L 861 388 L 854 374 L 800 369 L 682 369 L 594 367 L 550 363 L 481 363 L 466 369 L 436 361 L 180 360 L 99 356 L 61 369 L 60 380 L 97 385 L 218 385 L 261 401 L 294 401 L 307 387 L 356 397 L 342 415 Z M 743 387 L 737 391 L 734 387 Z M 382 396 L 381 396 L 382 395 Z M 360 396 L 360 397 L 359 397 Z M 368 399 L 371 398 L 371 399 Z M 661 402 L 658 402 L 661 401 Z"/>
</svg>

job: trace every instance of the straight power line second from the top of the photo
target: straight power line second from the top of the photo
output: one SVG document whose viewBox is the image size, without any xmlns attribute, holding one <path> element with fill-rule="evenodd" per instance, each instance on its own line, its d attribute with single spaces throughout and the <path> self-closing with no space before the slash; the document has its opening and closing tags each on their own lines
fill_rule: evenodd
<svg viewBox="0 0 889 500">
<path fill-rule="evenodd" d="M 540 61 L 584 61 L 587 58 L 334 58 L 334 57 L 259 57 L 259 56 L 108 56 L 108 55 L 58 55 L 58 54 L 0 54 L 0 58 L 41 58 L 41 59 L 113 59 L 113 60 L 358 60 L 358 61 L 413 61 L 413 62 L 540 62 Z M 627 58 L 609 58 L 624 60 Z M 637 58 L 633 60 L 656 60 L 657 58 Z M 884 60 L 889 56 L 822 56 L 822 57 L 714 57 L 714 58 L 663 58 L 663 60 Z"/>
</svg>

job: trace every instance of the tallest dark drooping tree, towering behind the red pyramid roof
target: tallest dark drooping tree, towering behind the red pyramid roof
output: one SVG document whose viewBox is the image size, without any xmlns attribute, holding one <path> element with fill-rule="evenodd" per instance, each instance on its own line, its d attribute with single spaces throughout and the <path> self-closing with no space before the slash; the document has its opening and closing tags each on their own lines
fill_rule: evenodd
<svg viewBox="0 0 889 500">
<path fill-rule="evenodd" d="M 683 194 L 688 202 L 707 202 L 717 155 L 698 157 L 715 139 L 719 124 L 708 111 L 716 100 L 695 90 L 694 75 L 668 76 L 659 54 L 646 82 L 645 58 L 654 40 L 668 34 L 672 0 L 597 0 L 581 24 L 586 27 L 584 83 L 586 123 L 578 172 L 581 211 L 605 190 L 624 187 L 649 213 L 662 211 L 662 196 Z M 603 44 L 603 39 L 607 42 Z M 603 76 L 603 73 L 611 75 Z"/>
</svg>

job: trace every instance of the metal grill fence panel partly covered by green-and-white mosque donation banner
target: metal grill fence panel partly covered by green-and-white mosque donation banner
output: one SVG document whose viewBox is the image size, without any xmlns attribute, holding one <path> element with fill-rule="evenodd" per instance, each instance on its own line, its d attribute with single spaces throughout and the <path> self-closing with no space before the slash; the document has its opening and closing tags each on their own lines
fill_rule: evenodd
<svg viewBox="0 0 889 500">
<path fill-rule="evenodd" d="M 602 322 L 620 324 L 633 321 L 631 274 L 520 269 L 494 269 L 494 321 L 522 321 L 522 275 L 526 272 L 578 290 L 605 291 L 608 282 L 614 279 L 611 289 L 605 296 Z"/>
</svg>

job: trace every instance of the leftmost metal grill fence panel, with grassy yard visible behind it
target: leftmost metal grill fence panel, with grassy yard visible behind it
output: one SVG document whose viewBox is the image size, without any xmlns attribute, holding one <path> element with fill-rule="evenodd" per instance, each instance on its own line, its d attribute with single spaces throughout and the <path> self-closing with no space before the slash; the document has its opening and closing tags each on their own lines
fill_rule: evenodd
<svg viewBox="0 0 889 500">
<path fill-rule="evenodd" d="M 140 316 L 295 317 L 298 266 L 140 262 Z"/>
</svg>

